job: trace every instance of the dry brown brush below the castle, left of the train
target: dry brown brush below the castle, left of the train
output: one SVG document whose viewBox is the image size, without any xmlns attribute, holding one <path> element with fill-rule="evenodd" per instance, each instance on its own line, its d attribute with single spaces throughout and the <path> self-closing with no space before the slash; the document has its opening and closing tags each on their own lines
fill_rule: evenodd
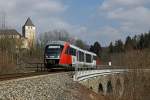
<svg viewBox="0 0 150 100">
<path fill-rule="evenodd" d="M 17 54 L 16 52 L 2 51 L 0 49 L 0 74 L 30 71 L 30 69 L 26 69 L 26 67 L 33 66 L 29 63 L 43 62 L 43 53 L 41 53 L 39 49 L 31 51 L 21 50 L 20 53 Z"/>
</svg>

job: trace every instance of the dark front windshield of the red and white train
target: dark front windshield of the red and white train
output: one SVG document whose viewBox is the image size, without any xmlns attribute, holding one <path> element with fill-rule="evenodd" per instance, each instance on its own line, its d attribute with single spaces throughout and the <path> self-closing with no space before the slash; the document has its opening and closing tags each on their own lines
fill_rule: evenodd
<svg viewBox="0 0 150 100">
<path fill-rule="evenodd" d="M 59 58 L 63 46 L 60 45 L 48 45 L 45 48 L 45 55 L 47 58 Z"/>
</svg>

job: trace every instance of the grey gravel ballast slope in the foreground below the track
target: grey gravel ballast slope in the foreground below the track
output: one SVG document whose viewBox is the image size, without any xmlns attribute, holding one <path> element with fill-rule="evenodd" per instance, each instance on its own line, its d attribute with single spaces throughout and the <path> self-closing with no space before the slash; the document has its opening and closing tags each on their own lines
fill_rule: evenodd
<svg viewBox="0 0 150 100">
<path fill-rule="evenodd" d="M 0 82 L 0 100 L 92 100 L 95 94 L 81 87 L 68 73 L 7 80 Z"/>
</svg>

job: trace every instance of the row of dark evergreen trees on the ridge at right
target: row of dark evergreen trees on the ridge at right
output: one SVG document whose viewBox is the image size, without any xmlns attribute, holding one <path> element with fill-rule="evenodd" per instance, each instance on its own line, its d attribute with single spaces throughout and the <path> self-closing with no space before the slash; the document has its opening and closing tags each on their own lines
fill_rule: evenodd
<svg viewBox="0 0 150 100">
<path fill-rule="evenodd" d="M 112 42 L 109 45 L 109 52 L 124 52 L 129 50 L 145 49 L 150 48 L 150 31 L 141 35 L 135 35 L 133 38 L 128 36 L 125 44 L 121 40 L 115 41 L 113 46 Z"/>
</svg>

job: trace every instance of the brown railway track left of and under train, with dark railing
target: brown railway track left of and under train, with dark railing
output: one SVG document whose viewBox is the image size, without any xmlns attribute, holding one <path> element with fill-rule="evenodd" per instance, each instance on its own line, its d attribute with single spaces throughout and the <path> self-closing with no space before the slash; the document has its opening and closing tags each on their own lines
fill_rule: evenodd
<svg viewBox="0 0 150 100">
<path fill-rule="evenodd" d="M 11 80 L 11 79 L 18 79 L 18 78 L 25 78 L 25 77 L 32 77 L 38 75 L 46 75 L 46 74 L 55 74 L 55 73 L 63 73 L 69 72 L 69 70 L 65 70 L 63 68 L 53 68 L 53 69 L 46 69 L 44 67 L 44 63 L 28 63 L 31 67 L 26 67 L 28 69 L 34 69 L 32 72 L 25 72 L 25 73 L 15 73 L 15 74 L 4 74 L 0 75 L 0 81 Z"/>
</svg>

